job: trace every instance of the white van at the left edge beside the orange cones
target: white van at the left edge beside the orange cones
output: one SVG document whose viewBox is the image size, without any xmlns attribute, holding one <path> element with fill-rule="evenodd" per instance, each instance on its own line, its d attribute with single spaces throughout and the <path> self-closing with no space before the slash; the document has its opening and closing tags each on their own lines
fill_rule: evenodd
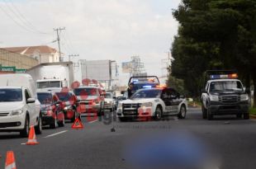
<svg viewBox="0 0 256 169">
<path fill-rule="evenodd" d="M 27 137 L 31 125 L 41 134 L 40 102 L 31 75 L 0 74 L 0 132 Z"/>
</svg>

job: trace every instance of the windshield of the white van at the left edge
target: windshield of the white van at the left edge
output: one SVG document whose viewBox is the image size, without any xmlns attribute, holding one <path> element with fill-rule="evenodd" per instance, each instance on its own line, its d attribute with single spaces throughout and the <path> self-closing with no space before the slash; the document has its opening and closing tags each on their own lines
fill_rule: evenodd
<svg viewBox="0 0 256 169">
<path fill-rule="evenodd" d="M 21 89 L 0 89 L 0 102 L 22 101 Z"/>
</svg>

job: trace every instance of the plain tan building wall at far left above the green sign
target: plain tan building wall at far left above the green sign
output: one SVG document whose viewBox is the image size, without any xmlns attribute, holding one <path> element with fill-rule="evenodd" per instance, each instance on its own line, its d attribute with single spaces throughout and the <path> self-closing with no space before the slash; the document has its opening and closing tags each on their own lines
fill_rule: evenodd
<svg viewBox="0 0 256 169">
<path fill-rule="evenodd" d="M 33 59 L 26 55 L 10 52 L 6 49 L 0 49 L 0 64 L 4 67 L 16 67 L 28 69 L 38 64 L 37 59 Z"/>
</svg>

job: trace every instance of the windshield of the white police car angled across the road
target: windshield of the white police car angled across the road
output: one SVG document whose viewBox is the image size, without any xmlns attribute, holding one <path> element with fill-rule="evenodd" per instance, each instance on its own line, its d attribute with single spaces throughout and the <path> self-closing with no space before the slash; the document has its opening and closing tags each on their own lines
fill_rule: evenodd
<svg viewBox="0 0 256 169">
<path fill-rule="evenodd" d="M 134 95 L 130 97 L 130 99 L 139 99 L 139 98 L 159 98 L 161 95 L 161 90 L 152 89 L 152 90 L 141 90 L 135 92 Z"/>
</svg>

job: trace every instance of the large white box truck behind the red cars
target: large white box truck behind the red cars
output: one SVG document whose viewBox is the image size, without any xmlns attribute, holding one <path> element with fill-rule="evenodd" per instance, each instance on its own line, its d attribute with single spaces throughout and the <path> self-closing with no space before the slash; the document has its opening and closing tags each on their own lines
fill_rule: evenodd
<svg viewBox="0 0 256 169">
<path fill-rule="evenodd" d="M 26 70 L 36 82 L 36 89 L 60 89 L 71 87 L 73 82 L 73 63 L 40 63 Z"/>
</svg>

